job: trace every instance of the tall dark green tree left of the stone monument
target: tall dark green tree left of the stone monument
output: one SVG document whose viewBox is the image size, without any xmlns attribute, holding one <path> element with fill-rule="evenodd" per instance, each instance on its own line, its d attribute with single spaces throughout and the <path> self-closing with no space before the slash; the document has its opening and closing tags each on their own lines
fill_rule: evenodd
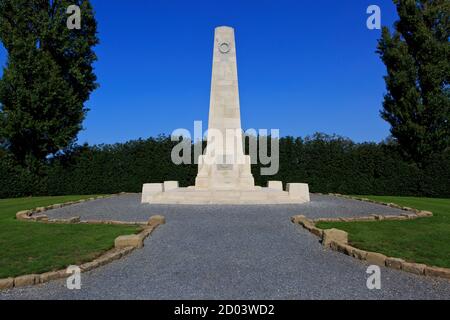
<svg viewBox="0 0 450 320">
<path fill-rule="evenodd" d="M 69 29 L 70 5 L 81 9 Z M 0 0 L 8 61 L 0 80 L 0 141 L 17 160 L 41 162 L 76 139 L 97 87 L 97 23 L 88 0 Z"/>
</svg>

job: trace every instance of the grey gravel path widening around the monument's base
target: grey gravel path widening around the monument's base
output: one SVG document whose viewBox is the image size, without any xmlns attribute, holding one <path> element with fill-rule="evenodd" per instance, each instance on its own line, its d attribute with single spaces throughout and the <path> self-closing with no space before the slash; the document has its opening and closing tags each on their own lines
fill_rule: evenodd
<svg viewBox="0 0 450 320">
<path fill-rule="evenodd" d="M 146 221 L 163 214 L 145 247 L 65 281 L 14 289 L 0 299 L 450 299 L 450 281 L 382 268 L 382 289 L 366 287 L 367 265 L 325 250 L 290 222 L 308 217 L 396 214 L 398 210 L 329 196 L 303 205 L 141 205 L 139 195 L 96 200 L 52 217 Z"/>
</svg>

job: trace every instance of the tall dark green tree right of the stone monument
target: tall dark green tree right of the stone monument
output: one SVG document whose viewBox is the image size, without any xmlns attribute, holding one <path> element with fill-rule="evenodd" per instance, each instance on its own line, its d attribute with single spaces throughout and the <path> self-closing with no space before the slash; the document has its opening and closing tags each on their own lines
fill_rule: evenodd
<svg viewBox="0 0 450 320">
<path fill-rule="evenodd" d="M 387 67 L 381 114 L 404 154 L 424 164 L 450 146 L 450 1 L 394 3 L 399 20 L 378 44 Z"/>
</svg>

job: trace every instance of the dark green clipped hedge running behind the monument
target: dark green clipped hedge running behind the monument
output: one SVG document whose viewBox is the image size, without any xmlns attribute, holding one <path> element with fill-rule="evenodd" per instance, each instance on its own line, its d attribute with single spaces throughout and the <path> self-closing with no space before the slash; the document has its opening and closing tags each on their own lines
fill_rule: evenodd
<svg viewBox="0 0 450 320">
<path fill-rule="evenodd" d="M 196 165 L 176 166 L 170 159 L 174 142 L 161 136 L 104 146 L 77 146 L 54 157 L 39 173 L 30 172 L 0 154 L 0 198 L 30 195 L 140 192 L 143 183 L 178 180 L 194 184 Z M 268 180 L 307 182 L 312 192 L 450 197 L 450 152 L 435 156 L 424 168 L 402 160 L 396 147 L 353 143 L 317 134 L 280 140 L 280 171 Z"/>
</svg>

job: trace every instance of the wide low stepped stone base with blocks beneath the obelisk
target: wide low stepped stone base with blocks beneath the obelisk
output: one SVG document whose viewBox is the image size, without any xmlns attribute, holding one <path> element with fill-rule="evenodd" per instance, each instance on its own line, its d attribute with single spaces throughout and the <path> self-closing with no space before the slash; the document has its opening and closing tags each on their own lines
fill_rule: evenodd
<svg viewBox="0 0 450 320">
<path fill-rule="evenodd" d="M 243 190 L 201 190 L 196 187 L 164 190 L 164 184 L 145 184 L 142 203 L 151 204 L 299 204 L 310 201 L 307 184 L 288 184 L 283 191 L 280 184 L 271 182 L 276 188 L 253 187 Z"/>
</svg>

